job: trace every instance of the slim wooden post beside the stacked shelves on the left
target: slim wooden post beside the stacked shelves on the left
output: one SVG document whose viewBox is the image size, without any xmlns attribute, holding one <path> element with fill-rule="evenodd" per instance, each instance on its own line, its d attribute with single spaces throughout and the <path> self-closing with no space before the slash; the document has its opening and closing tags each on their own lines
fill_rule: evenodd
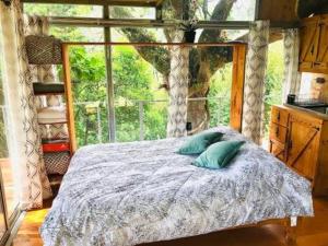
<svg viewBox="0 0 328 246">
<path fill-rule="evenodd" d="M 69 130 L 69 138 L 70 138 L 70 150 L 72 155 L 77 150 L 77 138 L 75 138 L 74 107 L 73 107 L 73 97 L 72 97 L 69 46 L 66 44 L 62 45 L 62 71 L 63 71 L 65 93 L 66 93 L 66 102 L 67 102 L 67 119 L 68 119 L 68 130 Z"/>
</svg>

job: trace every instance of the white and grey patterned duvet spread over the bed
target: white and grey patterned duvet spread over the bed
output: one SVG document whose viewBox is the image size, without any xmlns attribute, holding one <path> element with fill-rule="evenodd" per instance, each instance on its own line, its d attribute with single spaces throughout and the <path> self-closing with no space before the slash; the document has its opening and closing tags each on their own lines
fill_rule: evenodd
<svg viewBox="0 0 328 246">
<path fill-rule="evenodd" d="M 246 141 L 224 169 L 176 154 L 186 138 L 80 149 L 40 229 L 45 246 L 131 246 L 313 215 L 305 178 L 236 131 L 213 130 Z"/>
</svg>

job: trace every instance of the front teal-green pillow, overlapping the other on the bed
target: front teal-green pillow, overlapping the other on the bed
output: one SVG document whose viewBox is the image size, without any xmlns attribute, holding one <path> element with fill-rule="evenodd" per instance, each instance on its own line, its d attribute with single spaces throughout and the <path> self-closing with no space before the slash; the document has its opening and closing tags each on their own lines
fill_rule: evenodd
<svg viewBox="0 0 328 246">
<path fill-rule="evenodd" d="M 244 141 L 216 142 L 196 159 L 192 165 L 210 169 L 225 167 L 244 143 Z"/>
</svg>

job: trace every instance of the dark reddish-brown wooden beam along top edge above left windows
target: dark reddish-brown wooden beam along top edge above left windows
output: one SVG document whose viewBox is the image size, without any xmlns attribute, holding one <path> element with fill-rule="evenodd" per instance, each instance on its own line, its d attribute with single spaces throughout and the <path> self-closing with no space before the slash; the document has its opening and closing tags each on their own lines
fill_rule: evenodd
<svg viewBox="0 0 328 246">
<path fill-rule="evenodd" d="M 159 7 L 163 0 L 22 0 L 33 3 L 60 3 L 60 4 L 93 4 L 93 5 L 131 5 L 131 7 Z"/>
</svg>

